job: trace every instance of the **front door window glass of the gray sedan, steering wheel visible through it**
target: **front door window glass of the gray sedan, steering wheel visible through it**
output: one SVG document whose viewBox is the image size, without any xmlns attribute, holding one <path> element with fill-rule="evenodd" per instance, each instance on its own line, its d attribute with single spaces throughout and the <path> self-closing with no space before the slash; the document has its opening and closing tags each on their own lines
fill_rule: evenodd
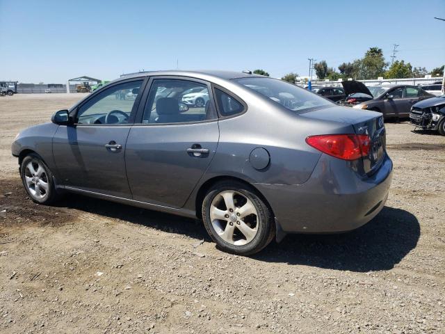
<svg viewBox="0 0 445 334">
<path fill-rule="evenodd" d="M 95 95 L 77 111 L 78 124 L 128 124 L 140 81 L 112 86 Z"/>
</svg>

